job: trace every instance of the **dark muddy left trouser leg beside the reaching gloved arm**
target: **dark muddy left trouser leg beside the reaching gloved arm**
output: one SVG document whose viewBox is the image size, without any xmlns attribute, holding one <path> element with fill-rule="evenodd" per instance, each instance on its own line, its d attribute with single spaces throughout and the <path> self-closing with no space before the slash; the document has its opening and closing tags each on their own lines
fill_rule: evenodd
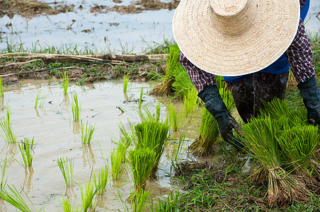
<svg viewBox="0 0 320 212">
<path fill-rule="evenodd" d="M 245 123 L 253 117 L 253 77 L 246 78 L 238 83 L 229 83 L 229 90 L 234 98 L 236 110 Z"/>
</svg>

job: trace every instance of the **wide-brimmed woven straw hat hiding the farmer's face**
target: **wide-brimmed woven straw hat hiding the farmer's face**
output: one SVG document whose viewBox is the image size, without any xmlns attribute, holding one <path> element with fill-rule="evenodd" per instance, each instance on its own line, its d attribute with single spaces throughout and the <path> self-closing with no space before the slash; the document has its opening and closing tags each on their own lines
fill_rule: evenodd
<svg viewBox="0 0 320 212">
<path fill-rule="evenodd" d="M 173 35 L 195 66 L 221 76 L 264 69 L 290 46 L 299 0 L 181 0 Z"/>
</svg>

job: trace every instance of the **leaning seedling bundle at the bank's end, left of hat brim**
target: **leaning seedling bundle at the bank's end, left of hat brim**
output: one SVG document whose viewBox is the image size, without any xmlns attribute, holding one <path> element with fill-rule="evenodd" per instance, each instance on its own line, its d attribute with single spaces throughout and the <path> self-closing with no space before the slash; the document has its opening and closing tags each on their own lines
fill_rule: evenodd
<svg viewBox="0 0 320 212">
<path fill-rule="evenodd" d="M 166 51 L 166 69 L 162 82 L 152 90 L 153 95 L 171 95 L 171 85 L 177 64 L 180 63 L 180 49 L 173 44 Z"/>
</svg>

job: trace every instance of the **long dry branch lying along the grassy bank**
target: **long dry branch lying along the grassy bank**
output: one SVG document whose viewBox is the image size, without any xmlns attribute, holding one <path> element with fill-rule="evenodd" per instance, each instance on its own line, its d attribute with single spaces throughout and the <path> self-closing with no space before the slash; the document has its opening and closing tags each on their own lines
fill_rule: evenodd
<svg viewBox="0 0 320 212">
<path fill-rule="evenodd" d="M 16 61 L 24 62 L 30 59 L 41 59 L 45 63 L 58 62 L 109 62 L 114 64 L 125 64 L 137 61 L 158 61 L 164 60 L 164 54 L 98 54 L 98 55 L 72 55 L 72 54 L 48 54 L 15 52 L 0 54 L 4 57 L 14 58 Z"/>
</svg>

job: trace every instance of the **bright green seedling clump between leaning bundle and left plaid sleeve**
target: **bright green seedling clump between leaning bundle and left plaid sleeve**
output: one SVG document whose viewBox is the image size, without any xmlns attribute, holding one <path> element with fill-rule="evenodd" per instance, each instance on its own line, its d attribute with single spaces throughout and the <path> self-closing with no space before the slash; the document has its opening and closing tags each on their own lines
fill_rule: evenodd
<svg viewBox="0 0 320 212">
<path fill-rule="evenodd" d="M 195 86 L 181 64 L 177 64 L 175 73 L 174 82 L 172 83 L 174 95 L 184 97 L 188 95 L 190 90 L 195 89 Z"/>
</svg>

